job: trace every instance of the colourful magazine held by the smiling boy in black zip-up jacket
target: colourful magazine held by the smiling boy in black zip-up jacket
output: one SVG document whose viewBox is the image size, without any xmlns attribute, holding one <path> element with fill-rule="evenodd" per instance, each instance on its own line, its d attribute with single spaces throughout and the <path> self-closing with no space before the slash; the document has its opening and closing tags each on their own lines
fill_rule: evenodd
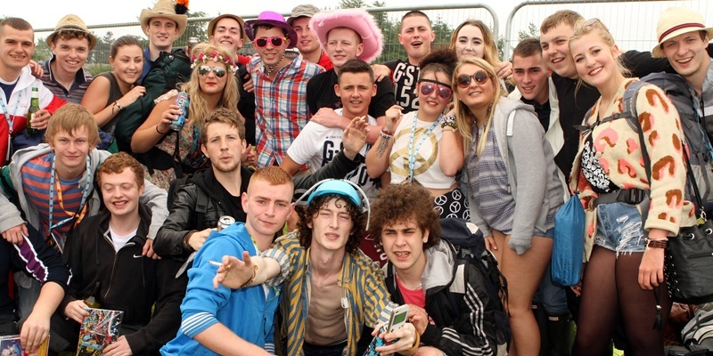
<svg viewBox="0 0 713 356">
<path fill-rule="evenodd" d="M 88 311 L 79 329 L 77 356 L 101 356 L 104 347 L 119 337 L 124 312 L 91 308 Z"/>
</svg>

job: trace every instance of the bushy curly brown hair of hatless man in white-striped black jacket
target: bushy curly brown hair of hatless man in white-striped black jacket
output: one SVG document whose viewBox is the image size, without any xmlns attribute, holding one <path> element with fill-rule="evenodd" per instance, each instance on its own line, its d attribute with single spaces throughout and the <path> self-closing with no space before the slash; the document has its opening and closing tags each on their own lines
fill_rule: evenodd
<svg viewBox="0 0 713 356">
<path fill-rule="evenodd" d="M 440 214 L 434 209 L 430 191 L 421 184 L 403 182 L 390 184 L 379 192 L 372 204 L 372 220 L 369 235 L 381 244 L 381 231 L 397 222 L 413 221 L 421 231 L 429 231 L 429 240 L 423 249 L 440 241 Z"/>
</svg>

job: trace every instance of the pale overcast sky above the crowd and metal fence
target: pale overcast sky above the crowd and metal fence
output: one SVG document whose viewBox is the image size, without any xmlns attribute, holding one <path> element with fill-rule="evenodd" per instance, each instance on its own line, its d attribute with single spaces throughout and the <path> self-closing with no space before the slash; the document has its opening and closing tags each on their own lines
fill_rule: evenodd
<svg viewBox="0 0 713 356">
<path fill-rule="evenodd" d="M 0 15 L 15 16 L 29 20 L 34 28 L 53 28 L 60 18 L 67 13 L 75 13 L 85 20 L 86 24 L 100 25 L 111 23 L 135 22 L 138 20 L 142 9 L 151 8 L 155 0 L 0 0 Z M 545 17 L 554 11 L 561 9 L 571 9 L 582 13 L 585 18 L 597 17 L 610 28 L 612 34 L 617 39 L 619 46 L 624 49 L 650 50 L 655 44 L 656 21 L 659 20 L 660 12 L 669 6 L 688 6 L 703 13 L 709 26 L 713 23 L 713 1 L 711 0 L 684 0 L 684 1 L 631 1 L 620 0 L 611 3 L 611 0 L 602 0 L 606 4 L 596 4 L 592 0 L 579 0 L 585 4 L 561 4 L 562 0 L 551 0 L 552 3 L 528 5 L 520 8 L 513 18 L 513 28 L 510 39 L 512 45 L 517 43 L 517 33 L 519 30 L 527 29 L 530 23 L 539 27 Z M 500 22 L 498 32 L 505 35 L 508 17 L 512 10 L 525 0 L 446 0 L 443 3 L 433 0 L 382 0 L 388 7 L 406 7 L 419 9 L 423 5 L 444 4 L 488 4 L 495 11 Z M 366 4 L 372 4 L 373 0 L 365 0 Z M 537 2 L 541 3 L 541 2 Z M 545 0 L 542 3 L 550 3 Z M 191 0 L 189 9 L 191 12 L 205 12 L 208 16 L 217 16 L 220 13 L 235 13 L 243 17 L 254 17 L 259 12 L 272 10 L 276 12 L 289 13 L 292 7 L 298 4 L 315 4 L 319 8 L 336 8 L 339 0 Z M 483 10 L 458 10 L 451 12 L 429 12 L 431 20 L 433 17 L 442 15 L 440 20 L 455 27 L 458 23 L 466 20 L 467 17 L 478 18 L 486 23 L 492 23 L 487 12 Z M 395 18 L 397 20 L 397 18 Z M 126 31 L 127 29 L 123 29 Z M 107 29 L 97 29 L 94 33 L 102 36 Z M 121 33 L 122 29 L 114 29 L 115 35 Z M 133 29 L 133 35 L 143 35 L 140 30 Z M 38 34 L 38 37 L 45 37 L 45 34 Z"/>
</svg>

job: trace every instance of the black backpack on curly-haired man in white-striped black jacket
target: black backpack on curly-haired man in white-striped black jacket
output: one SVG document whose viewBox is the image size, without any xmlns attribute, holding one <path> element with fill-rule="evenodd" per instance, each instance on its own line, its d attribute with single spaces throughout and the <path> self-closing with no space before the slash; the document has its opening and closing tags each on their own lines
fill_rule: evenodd
<svg viewBox="0 0 713 356">
<path fill-rule="evenodd" d="M 482 293 L 488 294 L 488 298 L 496 303 L 496 328 L 497 335 L 494 337 L 497 343 L 497 355 L 503 355 L 510 347 L 512 331 L 510 320 L 505 312 L 504 305 L 507 305 L 507 279 L 497 268 L 497 261 L 488 249 L 485 248 L 483 233 L 478 230 L 474 223 L 466 222 L 458 218 L 440 219 L 441 237 L 446 239 L 455 248 L 456 271 L 463 268 L 463 280 L 470 280 L 468 273 L 478 271 L 483 281 L 480 288 Z M 465 264 L 470 264 L 474 268 L 467 268 Z M 463 294 L 463 291 L 455 290 L 457 283 L 449 286 L 451 295 Z M 463 294 L 464 296 L 464 294 Z M 458 312 L 459 303 L 455 298 L 451 299 L 453 310 Z M 458 312 L 460 313 L 460 312 Z"/>
</svg>

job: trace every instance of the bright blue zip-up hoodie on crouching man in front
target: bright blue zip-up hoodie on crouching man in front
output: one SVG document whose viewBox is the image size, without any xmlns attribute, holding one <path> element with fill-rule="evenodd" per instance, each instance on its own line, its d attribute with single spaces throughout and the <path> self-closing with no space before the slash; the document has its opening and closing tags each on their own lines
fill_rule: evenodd
<svg viewBox="0 0 713 356">
<path fill-rule="evenodd" d="M 217 266 L 209 261 L 220 262 L 224 255 L 242 258 L 243 251 L 258 255 L 245 224 L 234 223 L 223 231 L 210 233 L 195 256 L 193 268 L 188 270 L 188 287 L 181 303 L 181 328 L 176 338 L 161 348 L 162 355 L 217 355 L 193 340 L 216 323 L 225 325 L 245 341 L 275 353 L 274 319 L 280 300 L 279 287 L 235 290 L 213 287 Z"/>
</svg>

